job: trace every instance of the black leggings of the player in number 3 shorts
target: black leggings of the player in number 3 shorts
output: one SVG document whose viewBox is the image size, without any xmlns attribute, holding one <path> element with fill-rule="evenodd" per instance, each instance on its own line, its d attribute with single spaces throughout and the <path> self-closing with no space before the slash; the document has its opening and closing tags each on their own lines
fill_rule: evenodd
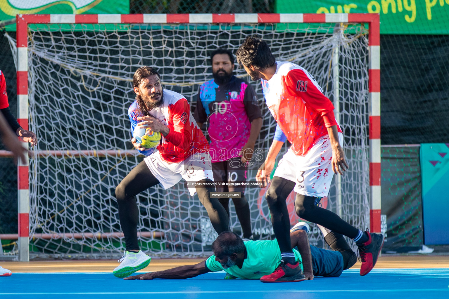
<svg viewBox="0 0 449 299">
<path fill-rule="evenodd" d="M 294 187 L 295 182 L 285 178 L 274 177 L 265 195 L 270 208 L 273 231 L 281 252 L 291 251 L 290 217 L 286 199 Z M 349 238 L 357 236 L 358 229 L 341 219 L 337 214 L 317 207 L 315 199 L 316 197 L 297 194 L 295 199 L 296 214 L 307 221 L 320 224 Z"/>
</svg>

